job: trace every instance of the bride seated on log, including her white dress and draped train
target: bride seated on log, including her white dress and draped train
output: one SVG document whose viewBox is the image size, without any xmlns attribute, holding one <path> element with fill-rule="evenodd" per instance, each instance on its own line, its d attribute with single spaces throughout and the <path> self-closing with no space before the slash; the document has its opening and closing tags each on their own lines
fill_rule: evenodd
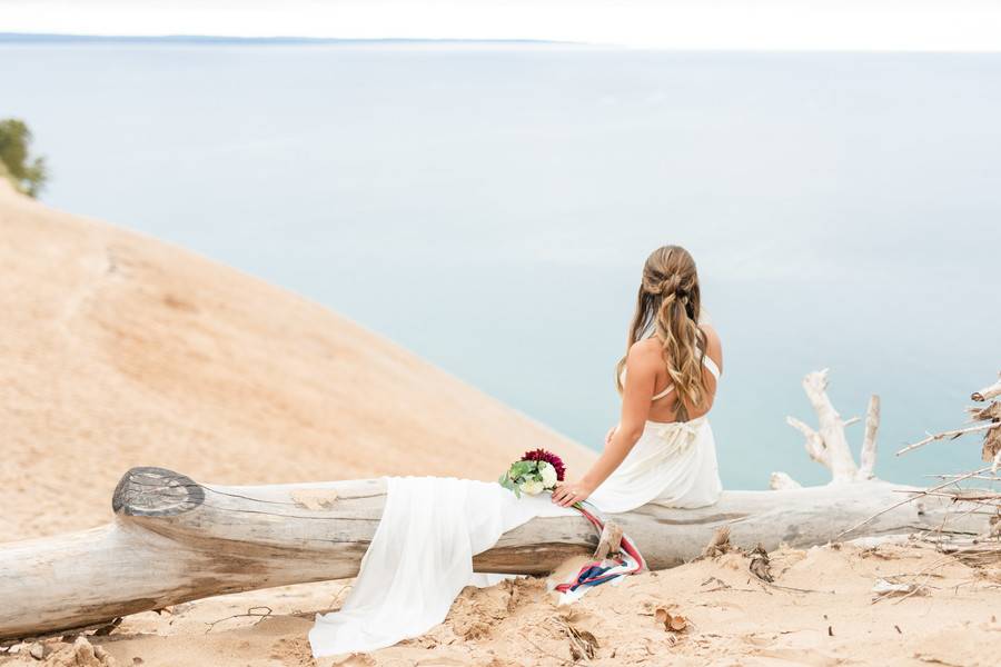
<svg viewBox="0 0 1001 667">
<path fill-rule="evenodd" d="M 552 501 L 517 497 L 496 482 L 386 477 L 383 516 L 358 577 L 340 610 L 316 616 L 313 655 L 374 650 L 426 633 L 464 587 L 503 578 L 474 575 L 473 556 L 535 517 L 578 516 L 569 506 L 585 499 L 601 512 L 715 502 L 721 485 L 706 414 L 722 357 L 700 308 L 692 256 L 678 246 L 654 250 L 617 367 L 620 424 L 591 469 L 558 486 Z"/>
</svg>

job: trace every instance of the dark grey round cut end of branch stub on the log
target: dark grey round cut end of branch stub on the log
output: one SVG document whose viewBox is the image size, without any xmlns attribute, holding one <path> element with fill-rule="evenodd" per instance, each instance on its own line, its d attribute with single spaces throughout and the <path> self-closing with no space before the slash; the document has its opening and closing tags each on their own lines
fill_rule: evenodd
<svg viewBox="0 0 1001 667">
<path fill-rule="evenodd" d="M 205 501 L 205 490 L 190 477 L 142 466 L 126 472 L 115 487 L 111 509 L 130 517 L 169 517 L 190 511 Z"/>
</svg>

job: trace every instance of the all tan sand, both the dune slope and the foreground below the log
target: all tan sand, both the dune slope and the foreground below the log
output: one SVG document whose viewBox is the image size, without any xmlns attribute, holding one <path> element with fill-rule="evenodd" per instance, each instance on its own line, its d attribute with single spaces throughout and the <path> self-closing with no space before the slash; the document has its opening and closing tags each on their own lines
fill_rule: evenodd
<svg viewBox="0 0 1001 667">
<path fill-rule="evenodd" d="M 376 475 L 493 479 L 548 447 L 593 454 L 305 299 L 0 182 L 0 541 L 110 519 L 136 465 L 266 484 Z M 0 547 L 2 548 L 2 547 Z M 17 645 L 0 665 L 995 665 L 1001 567 L 918 541 L 729 552 L 557 607 L 546 581 L 467 588 L 445 623 L 314 661 L 306 633 L 350 581 L 127 617 L 107 636 Z M 572 569 L 573 563 L 564 569 Z M 912 593 L 875 600 L 881 580 Z M 682 631 L 658 608 L 687 619 Z M 32 657 L 34 653 L 40 658 Z"/>
</svg>

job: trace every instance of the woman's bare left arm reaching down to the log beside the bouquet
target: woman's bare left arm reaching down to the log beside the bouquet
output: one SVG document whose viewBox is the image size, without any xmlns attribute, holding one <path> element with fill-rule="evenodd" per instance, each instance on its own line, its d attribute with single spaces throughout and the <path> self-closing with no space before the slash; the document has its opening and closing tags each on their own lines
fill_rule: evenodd
<svg viewBox="0 0 1001 667">
<path fill-rule="evenodd" d="M 663 365 L 660 346 L 644 345 L 630 348 L 626 357 L 626 379 L 622 392 L 622 418 L 618 428 L 605 445 L 602 456 L 577 482 L 564 482 L 553 491 L 553 502 L 569 507 L 585 500 L 622 464 L 636 440 L 643 435 L 650 404 L 654 394 L 657 367 Z"/>
</svg>

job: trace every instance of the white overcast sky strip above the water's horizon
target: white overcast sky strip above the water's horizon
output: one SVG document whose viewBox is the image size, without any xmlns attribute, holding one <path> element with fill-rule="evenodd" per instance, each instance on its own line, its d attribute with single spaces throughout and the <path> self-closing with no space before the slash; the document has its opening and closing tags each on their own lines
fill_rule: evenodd
<svg viewBox="0 0 1001 667">
<path fill-rule="evenodd" d="M 0 0 L 0 32 L 1001 51 L 1001 0 Z"/>
</svg>

